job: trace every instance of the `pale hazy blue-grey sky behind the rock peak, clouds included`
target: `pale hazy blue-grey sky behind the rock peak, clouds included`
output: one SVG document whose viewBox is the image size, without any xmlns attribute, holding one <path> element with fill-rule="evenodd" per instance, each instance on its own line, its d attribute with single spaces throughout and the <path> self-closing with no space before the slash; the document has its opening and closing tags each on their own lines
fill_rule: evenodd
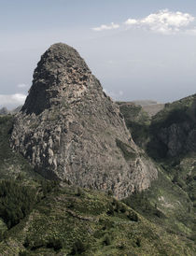
<svg viewBox="0 0 196 256">
<path fill-rule="evenodd" d="M 195 93 L 195 0 L 0 0 L 0 107 L 23 104 L 41 54 L 77 49 L 114 100 Z"/>
</svg>

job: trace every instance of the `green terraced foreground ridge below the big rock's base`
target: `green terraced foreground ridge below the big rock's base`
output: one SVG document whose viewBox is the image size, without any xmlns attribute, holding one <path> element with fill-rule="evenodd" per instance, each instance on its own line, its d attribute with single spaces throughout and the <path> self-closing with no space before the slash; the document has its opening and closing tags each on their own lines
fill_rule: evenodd
<svg viewBox="0 0 196 256">
<path fill-rule="evenodd" d="M 112 196 L 63 182 L 4 237 L 0 251 L 10 256 L 195 255 L 192 241 L 166 232 Z"/>
</svg>

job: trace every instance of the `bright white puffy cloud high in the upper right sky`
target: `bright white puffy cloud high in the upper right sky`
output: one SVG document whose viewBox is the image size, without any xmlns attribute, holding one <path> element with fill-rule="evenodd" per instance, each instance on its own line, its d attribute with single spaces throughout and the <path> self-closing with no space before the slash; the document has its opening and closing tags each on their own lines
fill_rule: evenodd
<svg viewBox="0 0 196 256">
<path fill-rule="evenodd" d="M 195 18 L 189 13 L 163 9 L 140 20 L 128 19 L 124 24 L 137 25 L 161 34 L 175 34 L 183 31 L 194 20 Z"/>
</svg>

